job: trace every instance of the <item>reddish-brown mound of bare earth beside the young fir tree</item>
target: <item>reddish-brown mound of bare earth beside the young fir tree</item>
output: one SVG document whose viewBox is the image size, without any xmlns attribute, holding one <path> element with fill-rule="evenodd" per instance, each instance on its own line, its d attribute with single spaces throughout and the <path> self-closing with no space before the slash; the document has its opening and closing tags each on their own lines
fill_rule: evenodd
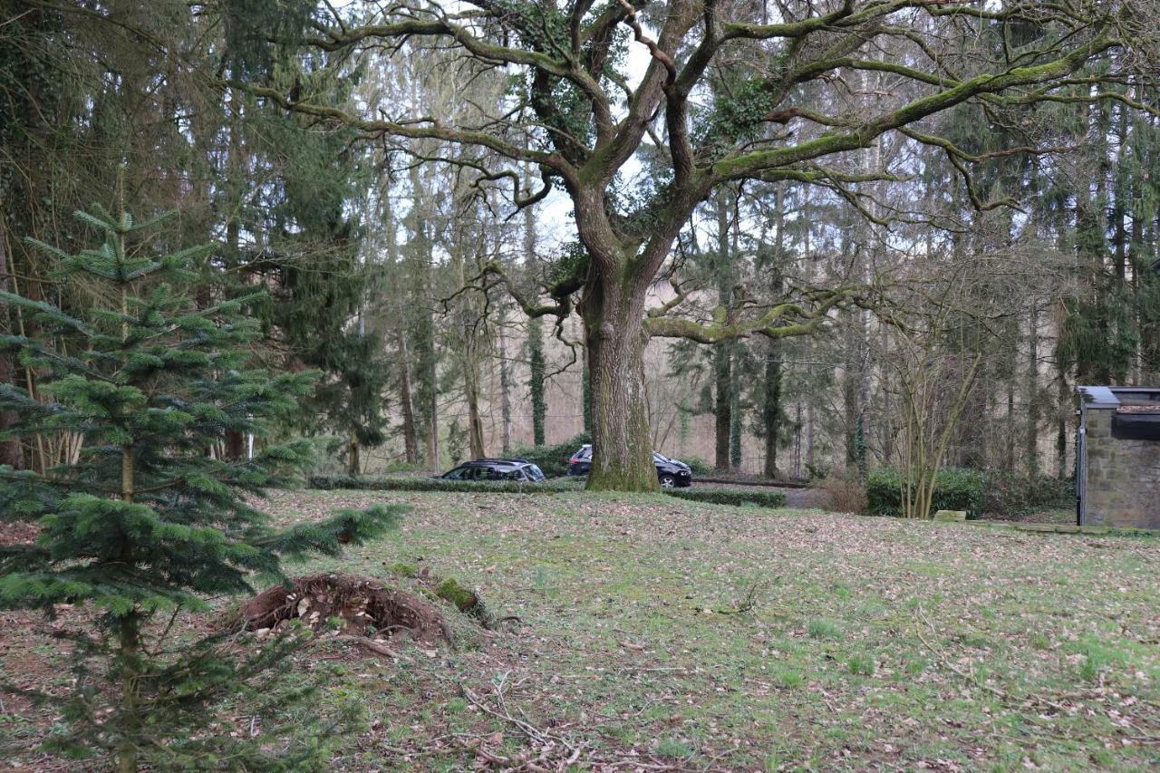
<svg viewBox="0 0 1160 773">
<path fill-rule="evenodd" d="M 238 617 L 248 630 L 277 630 L 290 620 L 302 620 L 314 630 L 341 621 L 345 634 L 392 637 L 407 634 L 422 642 L 451 641 L 438 608 L 413 593 L 385 587 L 367 577 L 312 575 L 293 585 L 275 585 L 247 601 Z"/>
</svg>

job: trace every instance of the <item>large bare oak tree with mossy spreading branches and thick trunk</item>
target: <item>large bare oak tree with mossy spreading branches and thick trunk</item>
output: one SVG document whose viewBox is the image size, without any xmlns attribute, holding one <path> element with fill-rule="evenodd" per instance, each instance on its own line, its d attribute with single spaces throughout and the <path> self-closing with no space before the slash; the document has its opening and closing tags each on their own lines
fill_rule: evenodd
<svg viewBox="0 0 1160 773">
<path fill-rule="evenodd" d="M 589 486 L 647 490 L 655 486 L 644 389 L 650 337 L 712 344 L 803 334 L 838 306 L 868 303 L 864 288 L 838 282 L 690 319 L 680 315 L 687 294 L 675 284 L 670 299 L 650 308 L 650 289 L 698 203 L 720 186 L 785 181 L 828 189 L 889 222 L 897 214 L 875 198 L 873 185 L 907 169 L 876 168 L 862 151 L 899 132 L 945 152 L 971 200 L 987 207 L 970 179 L 980 157 L 940 135 L 934 118 L 967 102 L 1016 127 L 1013 116 L 1044 101 L 1114 99 L 1150 109 L 1132 85 L 1155 49 L 1152 10 L 1088 0 L 404 0 L 375 6 L 357 23 L 317 17 L 305 43 L 358 56 L 437 49 L 441 60 L 450 51 L 480 77 L 510 79 L 494 115 L 457 121 L 408 104 L 360 114 L 282 84 L 247 86 L 400 149 L 416 143 L 418 154 L 474 171 L 480 185 L 510 183 L 516 207 L 553 187 L 566 193 L 587 254 L 544 289 L 551 302 L 519 291 L 498 265 L 478 282 L 507 284 L 532 316 L 579 311 L 593 400 Z M 646 67 L 630 66 L 633 45 L 647 49 Z M 1041 138 L 1014 136 L 1001 153 L 1038 150 Z M 443 150 L 433 156 L 433 146 Z M 643 159 L 651 183 L 626 190 L 625 174 Z M 538 167 L 543 185 L 523 188 L 521 164 Z"/>
</svg>

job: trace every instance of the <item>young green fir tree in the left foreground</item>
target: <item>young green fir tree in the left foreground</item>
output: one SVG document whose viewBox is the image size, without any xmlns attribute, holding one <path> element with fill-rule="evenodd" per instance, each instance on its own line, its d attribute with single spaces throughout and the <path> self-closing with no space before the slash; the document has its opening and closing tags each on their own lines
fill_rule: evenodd
<svg viewBox="0 0 1160 773">
<path fill-rule="evenodd" d="M 96 629 L 78 635 L 75 687 L 57 699 L 66 722 L 49 745 L 77 757 L 110 753 L 119 771 L 317 767 L 325 744 L 305 744 L 275 765 L 258 743 L 201 731 L 217 701 L 256 682 L 249 698 L 273 703 L 276 695 L 277 711 L 303 698 L 298 686 L 280 689 L 273 669 L 303 637 L 254 650 L 231 645 L 229 631 L 183 644 L 169 641 L 172 621 L 206 609 L 210 597 L 282 577 L 282 556 L 332 555 L 374 536 L 399 508 L 273 529 L 244 494 L 288 482 L 309 458 L 307 443 L 267 445 L 248 460 L 210 449 L 231 432 L 261 438 L 310 391 L 311 376 L 247 369 L 258 328 L 241 310 L 253 297 L 198 309 L 179 289 L 196 276 L 190 263 L 202 250 L 153 257 L 137 236 L 152 223 L 95 211 L 78 217 L 103 231 L 99 248 L 70 255 L 37 246 L 59 261 L 64 279 L 99 286 L 114 308 L 78 318 L 0 295 L 42 332 L 35 340 L 0 335 L 0 347 L 50 374 L 39 389 L 46 402 L 0 386 L 0 410 L 20 414 L 9 433 L 74 432 L 85 441 L 75 464 L 43 476 L 0 468 L 0 519 L 39 527 L 35 544 L 0 550 L 0 606 L 51 614 L 72 604 L 94 613 Z M 256 741 L 269 743 L 271 732 L 268 725 Z"/>
</svg>

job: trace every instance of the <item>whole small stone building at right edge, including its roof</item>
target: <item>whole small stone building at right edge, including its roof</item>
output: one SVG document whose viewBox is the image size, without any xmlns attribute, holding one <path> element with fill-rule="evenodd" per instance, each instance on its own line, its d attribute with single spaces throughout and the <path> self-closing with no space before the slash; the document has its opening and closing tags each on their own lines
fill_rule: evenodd
<svg viewBox="0 0 1160 773">
<path fill-rule="evenodd" d="M 1080 525 L 1160 529 L 1160 389 L 1079 392 Z"/>
</svg>

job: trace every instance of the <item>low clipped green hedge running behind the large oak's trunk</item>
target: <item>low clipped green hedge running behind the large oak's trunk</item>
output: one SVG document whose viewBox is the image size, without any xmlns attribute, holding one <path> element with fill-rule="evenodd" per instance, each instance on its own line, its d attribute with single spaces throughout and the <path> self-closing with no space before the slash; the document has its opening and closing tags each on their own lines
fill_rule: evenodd
<svg viewBox="0 0 1160 773">
<path fill-rule="evenodd" d="M 355 478 L 348 475 L 316 475 L 310 478 L 312 489 L 348 489 L 361 491 L 448 491 L 459 493 L 558 493 L 580 491 L 583 478 L 558 478 L 544 483 L 516 483 L 514 481 L 444 481 L 442 478 Z M 664 489 L 665 493 L 716 505 L 760 505 L 784 507 L 785 494 L 781 491 L 733 491 L 726 489 Z"/>
</svg>

